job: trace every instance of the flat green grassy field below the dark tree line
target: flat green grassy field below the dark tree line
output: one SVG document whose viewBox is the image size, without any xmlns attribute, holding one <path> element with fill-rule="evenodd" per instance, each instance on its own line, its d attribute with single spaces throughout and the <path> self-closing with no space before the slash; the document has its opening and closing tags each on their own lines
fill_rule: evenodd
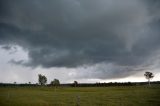
<svg viewBox="0 0 160 106">
<path fill-rule="evenodd" d="M 1 87 L 0 106 L 160 106 L 160 85 Z"/>
</svg>

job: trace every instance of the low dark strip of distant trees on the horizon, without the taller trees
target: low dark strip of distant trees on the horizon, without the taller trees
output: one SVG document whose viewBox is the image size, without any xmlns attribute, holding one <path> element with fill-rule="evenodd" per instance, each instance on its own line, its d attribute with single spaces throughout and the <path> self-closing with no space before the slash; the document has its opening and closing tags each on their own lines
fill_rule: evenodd
<svg viewBox="0 0 160 106">
<path fill-rule="evenodd" d="M 152 84 L 160 84 L 160 81 L 151 82 Z M 109 82 L 109 83 L 67 83 L 60 84 L 60 87 L 109 87 L 109 86 L 136 86 L 136 85 L 147 85 L 148 82 Z M 17 84 L 17 83 L 0 83 L 0 87 L 39 87 L 40 84 Z M 46 84 L 45 86 L 52 87 L 52 84 Z"/>
</svg>

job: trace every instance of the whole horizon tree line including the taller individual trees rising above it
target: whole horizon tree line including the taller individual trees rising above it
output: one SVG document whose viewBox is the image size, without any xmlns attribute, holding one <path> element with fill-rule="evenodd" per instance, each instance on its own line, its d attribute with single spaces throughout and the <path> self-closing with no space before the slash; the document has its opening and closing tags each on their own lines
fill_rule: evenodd
<svg viewBox="0 0 160 106">
<path fill-rule="evenodd" d="M 148 80 L 148 85 L 151 86 L 151 79 L 154 77 L 154 74 L 152 72 L 145 72 L 144 74 L 145 78 Z M 153 84 L 160 84 L 160 81 L 155 81 L 152 82 Z M 31 84 L 25 83 L 25 84 L 17 84 L 16 82 L 14 83 L 0 83 L 0 86 L 70 86 L 70 87 L 107 87 L 107 86 L 134 86 L 134 85 L 146 85 L 146 82 L 109 82 L 109 83 L 78 83 L 78 81 L 74 81 L 73 83 L 68 83 L 68 84 L 60 84 L 60 81 L 58 79 L 53 79 L 49 84 L 47 84 L 47 77 L 42 74 L 38 74 L 38 83 L 36 84 Z"/>
</svg>

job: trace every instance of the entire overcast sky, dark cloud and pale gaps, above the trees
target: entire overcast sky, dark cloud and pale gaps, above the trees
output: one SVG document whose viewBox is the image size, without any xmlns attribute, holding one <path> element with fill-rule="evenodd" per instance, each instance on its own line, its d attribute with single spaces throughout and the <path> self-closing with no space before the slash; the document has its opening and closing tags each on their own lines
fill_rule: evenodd
<svg viewBox="0 0 160 106">
<path fill-rule="evenodd" d="M 160 80 L 159 0 L 0 0 L 0 82 Z"/>
</svg>

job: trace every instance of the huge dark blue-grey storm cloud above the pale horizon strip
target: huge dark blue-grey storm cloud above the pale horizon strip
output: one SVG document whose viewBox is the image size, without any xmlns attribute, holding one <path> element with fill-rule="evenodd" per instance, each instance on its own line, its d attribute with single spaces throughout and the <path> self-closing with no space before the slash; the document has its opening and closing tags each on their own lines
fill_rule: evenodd
<svg viewBox="0 0 160 106">
<path fill-rule="evenodd" d="M 124 69 L 129 75 L 160 49 L 160 2 L 156 0 L 0 2 L 0 43 L 28 51 L 28 62 L 14 63 L 43 67 L 106 63 L 129 67 Z M 114 67 L 111 73 L 123 70 Z"/>
</svg>

